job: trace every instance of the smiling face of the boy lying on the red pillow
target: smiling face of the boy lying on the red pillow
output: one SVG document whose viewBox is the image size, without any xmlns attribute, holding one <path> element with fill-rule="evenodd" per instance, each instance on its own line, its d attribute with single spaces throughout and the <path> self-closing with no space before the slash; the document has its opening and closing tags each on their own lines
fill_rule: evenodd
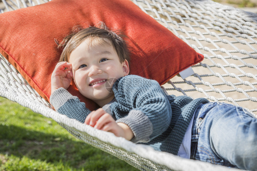
<svg viewBox="0 0 257 171">
<path fill-rule="evenodd" d="M 113 46 L 89 38 L 71 52 L 69 62 L 79 92 L 100 107 L 113 99 L 114 82 L 129 74 L 128 61 L 120 63 Z"/>
</svg>

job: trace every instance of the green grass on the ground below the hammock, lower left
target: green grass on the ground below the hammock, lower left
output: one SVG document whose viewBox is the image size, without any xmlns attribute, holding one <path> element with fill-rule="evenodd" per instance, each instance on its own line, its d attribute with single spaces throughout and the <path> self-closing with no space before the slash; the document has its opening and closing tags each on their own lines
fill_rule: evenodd
<svg viewBox="0 0 257 171">
<path fill-rule="evenodd" d="M 54 120 L 0 97 L 0 170 L 137 170 L 76 139 Z"/>
</svg>

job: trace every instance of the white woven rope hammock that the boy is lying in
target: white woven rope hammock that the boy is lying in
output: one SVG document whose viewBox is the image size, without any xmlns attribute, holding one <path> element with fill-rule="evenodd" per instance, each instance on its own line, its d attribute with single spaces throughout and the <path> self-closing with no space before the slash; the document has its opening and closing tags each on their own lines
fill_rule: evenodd
<svg viewBox="0 0 257 171">
<path fill-rule="evenodd" d="M 0 12 L 45 2 L 2 0 Z M 184 80 L 176 76 L 163 86 L 169 94 L 233 103 L 247 108 L 256 117 L 257 14 L 209 0 L 133 2 L 205 57 L 199 65 L 193 66 L 193 76 Z M 2 55 L 0 96 L 54 119 L 78 139 L 140 170 L 231 170 L 154 151 L 55 112 Z"/>
</svg>

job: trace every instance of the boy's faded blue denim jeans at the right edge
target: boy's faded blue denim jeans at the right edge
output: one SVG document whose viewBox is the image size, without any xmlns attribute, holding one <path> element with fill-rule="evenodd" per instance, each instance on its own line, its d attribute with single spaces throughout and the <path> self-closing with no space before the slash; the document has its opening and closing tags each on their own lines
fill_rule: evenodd
<svg viewBox="0 0 257 171">
<path fill-rule="evenodd" d="M 199 105 L 192 126 L 191 158 L 257 170 L 257 119 L 227 103 Z"/>
</svg>

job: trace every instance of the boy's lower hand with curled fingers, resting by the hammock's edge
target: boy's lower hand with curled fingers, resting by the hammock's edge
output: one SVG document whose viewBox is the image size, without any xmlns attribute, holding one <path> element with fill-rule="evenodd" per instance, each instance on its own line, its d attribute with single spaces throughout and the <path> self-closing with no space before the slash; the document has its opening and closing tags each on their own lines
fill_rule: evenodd
<svg viewBox="0 0 257 171">
<path fill-rule="evenodd" d="M 115 136 L 121 136 L 127 140 L 131 140 L 134 137 L 134 133 L 128 125 L 124 123 L 116 123 L 112 116 L 106 113 L 102 108 L 92 111 L 86 117 L 85 124 L 96 129 L 114 133 Z"/>
</svg>

